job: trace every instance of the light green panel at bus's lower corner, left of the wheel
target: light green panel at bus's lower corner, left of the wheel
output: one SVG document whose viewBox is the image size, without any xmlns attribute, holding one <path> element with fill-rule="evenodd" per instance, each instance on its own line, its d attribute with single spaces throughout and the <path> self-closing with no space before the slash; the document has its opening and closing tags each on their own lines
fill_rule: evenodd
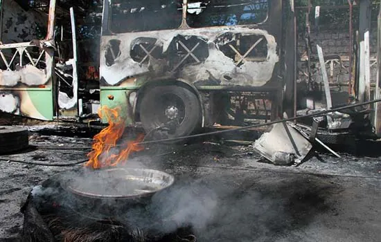
<svg viewBox="0 0 381 242">
<path fill-rule="evenodd" d="M 126 125 L 132 124 L 132 106 L 129 104 L 127 90 L 105 90 L 100 89 L 100 106 L 107 106 L 110 109 L 120 107 L 121 117 L 125 119 Z M 107 123 L 105 118 L 102 118 L 103 123 Z"/>
</svg>

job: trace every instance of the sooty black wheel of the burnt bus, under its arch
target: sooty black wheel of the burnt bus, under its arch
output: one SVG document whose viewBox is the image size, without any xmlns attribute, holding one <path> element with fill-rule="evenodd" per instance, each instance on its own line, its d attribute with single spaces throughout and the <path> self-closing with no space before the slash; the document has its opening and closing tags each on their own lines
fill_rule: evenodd
<svg viewBox="0 0 381 242">
<path fill-rule="evenodd" d="M 188 136 L 201 127 L 197 95 L 181 86 L 154 86 L 145 91 L 139 112 L 145 131 L 163 133 L 159 138 Z"/>
</svg>

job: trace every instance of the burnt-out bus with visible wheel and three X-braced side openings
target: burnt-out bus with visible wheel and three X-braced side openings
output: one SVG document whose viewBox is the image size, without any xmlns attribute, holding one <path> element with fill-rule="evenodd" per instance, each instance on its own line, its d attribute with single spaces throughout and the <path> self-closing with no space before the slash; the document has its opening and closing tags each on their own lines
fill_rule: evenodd
<svg viewBox="0 0 381 242">
<path fill-rule="evenodd" d="M 280 0 L 105 0 L 100 104 L 186 136 L 281 109 Z"/>
</svg>

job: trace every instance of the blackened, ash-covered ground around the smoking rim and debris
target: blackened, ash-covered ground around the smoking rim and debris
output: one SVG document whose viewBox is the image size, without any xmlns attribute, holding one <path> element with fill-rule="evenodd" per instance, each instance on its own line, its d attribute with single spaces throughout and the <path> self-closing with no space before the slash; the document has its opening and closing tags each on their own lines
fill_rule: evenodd
<svg viewBox="0 0 381 242">
<path fill-rule="evenodd" d="M 55 130 L 53 132 L 52 130 Z M 2 159 L 64 163 L 86 158 L 89 131 L 30 128 L 30 150 Z M 50 132 L 50 133 L 49 133 Z M 326 153 L 298 167 L 274 166 L 250 145 L 221 140 L 145 147 L 130 166 L 160 169 L 176 178 L 168 211 L 195 227 L 197 241 L 381 241 L 381 155 Z M 53 149 L 56 148 L 56 149 Z M 366 151 L 362 153 L 367 153 Z M 380 152 L 381 153 L 381 152 Z M 30 189 L 75 167 L 0 161 L 0 241 L 16 241 L 20 206 Z M 177 189 L 176 189 L 177 187 Z M 195 192 L 196 191 L 196 192 Z"/>
</svg>

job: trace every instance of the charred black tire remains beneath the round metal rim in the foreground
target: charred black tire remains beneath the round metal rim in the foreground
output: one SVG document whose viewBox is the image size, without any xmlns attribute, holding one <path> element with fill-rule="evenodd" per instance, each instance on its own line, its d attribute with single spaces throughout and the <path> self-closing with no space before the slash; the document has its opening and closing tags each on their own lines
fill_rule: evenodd
<svg viewBox="0 0 381 242">
<path fill-rule="evenodd" d="M 159 215 L 149 203 L 84 201 L 55 176 L 33 188 L 21 209 L 22 241 L 195 241 L 192 227 Z M 160 227 L 177 227 L 163 232 Z"/>
</svg>

